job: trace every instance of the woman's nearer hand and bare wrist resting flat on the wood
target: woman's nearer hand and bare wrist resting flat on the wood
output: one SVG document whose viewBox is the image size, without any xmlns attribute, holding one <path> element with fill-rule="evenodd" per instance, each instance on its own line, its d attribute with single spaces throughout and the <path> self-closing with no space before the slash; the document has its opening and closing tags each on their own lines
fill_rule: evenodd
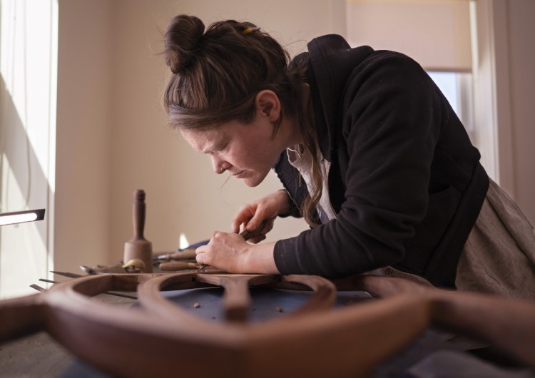
<svg viewBox="0 0 535 378">
<path fill-rule="evenodd" d="M 195 250 L 199 264 L 230 273 L 278 274 L 273 258 L 275 242 L 250 245 L 236 233 L 214 233 L 207 245 Z"/>
</svg>

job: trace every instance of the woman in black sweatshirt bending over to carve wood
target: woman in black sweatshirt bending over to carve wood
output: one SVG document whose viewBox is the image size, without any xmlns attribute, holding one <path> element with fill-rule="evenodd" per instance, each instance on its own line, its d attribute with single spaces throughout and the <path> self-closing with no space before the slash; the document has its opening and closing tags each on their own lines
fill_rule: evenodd
<svg viewBox="0 0 535 378">
<path fill-rule="evenodd" d="M 228 272 L 343 277 L 374 271 L 439 287 L 535 297 L 535 237 L 486 175 L 479 151 L 411 58 L 341 36 L 288 53 L 253 24 L 207 30 L 177 16 L 165 34 L 170 124 L 215 173 L 284 190 L 243 206 L 197 261 Z M 310 230 L 258 243 L 277 216 Z M 514 226 L 514 227 L 513 227 Z"/>
</svg>

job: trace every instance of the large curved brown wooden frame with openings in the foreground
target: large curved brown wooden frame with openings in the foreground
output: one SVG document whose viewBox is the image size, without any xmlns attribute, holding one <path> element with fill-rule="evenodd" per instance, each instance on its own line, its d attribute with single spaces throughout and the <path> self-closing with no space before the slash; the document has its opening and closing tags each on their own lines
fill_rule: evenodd
<svg viewBox="0 0 535 378">
<path fill-rule="evenodd" d="M 258 325 L 245 322 L 246 287 L 296 284 L 310 287 L 314 294 L 294 315 Z M 206 285 L 225 287 L 229 322 L 201 321 L 160 292 Z M 1 301 L 0 341 L 46 330 L 86 362 L 125 377 L 214 377 L 230 372 L 233 377 L 355 377 L 404 347 L 429 322 L 437 322 L 487 339 L 535 364 L 531 303 L 433 290 L 387 277 L 356 276 L 337 285 L 384 299 L 327 311 L 335 286 L 313 276 L 85 276 L 41 294 Z M 136 289 L 141 303 L 137 310 L 87 297 Z"/>
</svg>

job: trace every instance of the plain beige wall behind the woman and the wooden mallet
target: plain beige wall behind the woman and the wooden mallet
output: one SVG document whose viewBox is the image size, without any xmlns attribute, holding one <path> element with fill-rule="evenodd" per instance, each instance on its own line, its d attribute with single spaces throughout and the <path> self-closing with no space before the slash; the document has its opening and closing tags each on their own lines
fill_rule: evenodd
<svg viewBox="0 0 535 378">
<path fill-rule="evenodd" d="M 239 205 L 278 188 L 270 177 L 258 188 L 215 175 L 165 123 L 161 94 L 163 31 L 180 13 L 209 24 L 248 19 L 293 53 L 313 36 L 345 30 L 343 1 L 130 1 L 60 0 L 58 68 L 58 172 L 55 265 L 121 259 L 132 236 L 133 191 L 147 193 L 146 238 L 155 250 L 174 250 L 178 235 L 190 242 L 228 230 Z M 534 98 L 534 26 L 530 0 L 506 1 L 510 22 L 511 103 L 515 193 L 535 219 L 530 99 Z M 303 10 L 306 11 L 303 11 Z M 340 20 L 340 22 L 338 22 Z M 291 44 L 292 41 L 297 41 Z M 531 85 L 530 85 L 531 84 Z M 78 218 L 75 217 L 78 216 Z M 271 239 L 299 233 L 299 220 L 279 220 Z"/>
</svg>

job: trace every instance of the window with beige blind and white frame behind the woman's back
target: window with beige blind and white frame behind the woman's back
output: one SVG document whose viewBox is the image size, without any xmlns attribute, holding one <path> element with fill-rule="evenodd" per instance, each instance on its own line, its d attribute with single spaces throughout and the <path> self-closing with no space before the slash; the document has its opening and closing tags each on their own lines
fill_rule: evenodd
<svg viewBox="0 0 535 378">
<path fill-rule="evenodd" d="M 486 172 L 514 193 L 504 75 L 502 91 L 496 90 L 496 71 L 506 72 L 506 56 L 495 55 L 496 48 L 506 50 L 496 46 L 501 43 L 496 30 L 501 34 L 506 30 L 504 6 L 499 4 L 491 0 L 346 0 L 346 37 L 351 46 L 399 51 L 422 64 L 467 128 Z"/>
</svg>

